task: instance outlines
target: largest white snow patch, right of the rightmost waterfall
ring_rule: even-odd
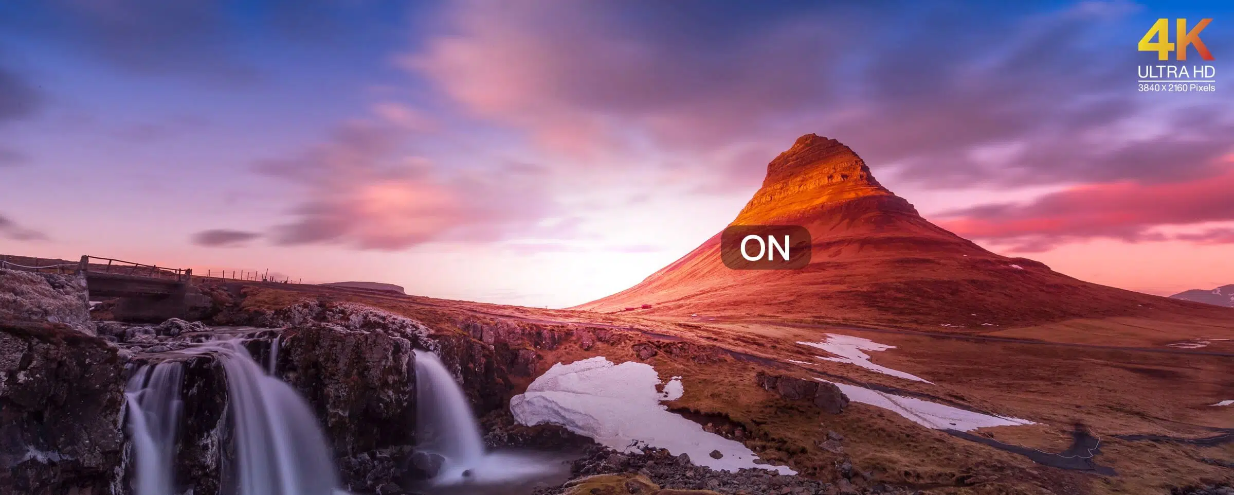
[[[784,465],[754,464],[758,455],[740,442],[702,431],[702,426],[668,411],[661,401],[681,397],[680,376],[656,393],[660,375],[649,364],[613,364],[602,356],[557,363],[527,386],[527,393],[510,399],[510,412],[521,425],[555,423],[591,437],[601,444],[637,452],[638,444],[666,448],[674,455],[716,470],[740,468],[796,474]],[[723,457],[711,458],[712,451]]]

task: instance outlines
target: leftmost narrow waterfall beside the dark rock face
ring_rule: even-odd
[[[128,432],[136,454],[136,495],[174,493],[175,433],[180,421],[180,381],[184,368],[168,362],[143,367],[125,389]]]

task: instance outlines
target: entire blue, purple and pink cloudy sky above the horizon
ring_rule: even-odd
[[[564,307],[806,133],[1065,274],[1234,283],[1229,2],[0,4],[0,252]],[[1159,17],[1217,90],[1141,93]]]

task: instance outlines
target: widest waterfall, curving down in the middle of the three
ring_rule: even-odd
[[[265,373],[239,339],[185,349],[218,358],[234,431],[237,495],[332,495],[338,486],[326,438],[308,404]]]

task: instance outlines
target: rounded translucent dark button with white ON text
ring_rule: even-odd
[[[796,225],[733,225],[719,235],[719,257],[734,270],[806,268],[810,246],[810,231]]]

